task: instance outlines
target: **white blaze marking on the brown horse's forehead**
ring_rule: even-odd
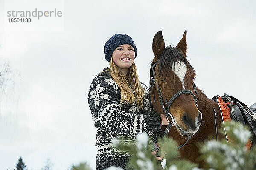
[[[176,61],[172,65],[172,71],[180,78],[183,89],[185,89],[184,79],[187,72],[187,66],[182,61]]]

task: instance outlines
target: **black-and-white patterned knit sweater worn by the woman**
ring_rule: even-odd
[[[161,116],[149,115],[148,88],[142,82],[140,85],[145,89],[144,109],[140,109],[136,102],[119,104],[121,91],[109,71],[102,72],[93,79],[88,103],[94,125],[98,129],[95,142],[97,170],[104,170],[112,165],[125,168],[127,165],[131,153],[116,150],[111,144],[114,137],[121,142],[135,142],[137,133],[146,132],[153,142],[157,142],[157,137],[163,134],[160,128]]]

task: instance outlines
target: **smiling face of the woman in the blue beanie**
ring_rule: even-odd
[[[130,44],[122,44],[115,49],[112,54],[113,62],[119,70],[126,70],[131,67],[134,62],[134,48]]]

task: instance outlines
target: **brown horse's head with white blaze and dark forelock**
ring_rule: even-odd
[[[164,107],[171,113],[180,135],[192,136],[199,129],[202,113],[197,108],[195,98],[195,71],[186,58],[186,31],[176,47],[171,45],[165,47],[162,31],[159,31],[154,36],[152,48],[154,52],[150,71],[150,77],[154,79],[154,86],[150,90],[153,91],[150,93],[152,105],[159,114],[164,114]],[[177,95],[179,91],[183,93]],[[189,91],[190,94],[184,91]],[[162,106],[160,96],[163,98]],[[173,101],[168,108],[169,102],[166,102],[170,99]]]

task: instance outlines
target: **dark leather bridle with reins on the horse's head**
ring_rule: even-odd
[[[156,104],[156,101],[155,101],[155,97],[154,97],[153,87],[154,87],[154,85],[156,84],[156,80],[155,80],[155,78],[156,78],[155,67],[156,67],[157,63],[158,63],[158,60],[157,60],[156,62],[154,62],[154,64],[152,65],[152,68],[151,68],[151,69],[153,70],[153,75],[152,75],[152,77],[151,77],[150,86],[149,86],[149,96],[151,96],[151,91],[152,91],[153,98],[154,98],[154,103],[155,103],[155,104]],[[195,78],[194,78],[194,79],[195,79]],[[194,83],[194,81],[193,81],[193,89],[194,89],[195,94],[198,95],[198,92],[197,92],[196,89],[195,89],[195,83]],[[161,107],[162,107],[162,109],[163,109],[163,111],[164,111],[164,113],[165,113],[166,119],[168,120],[168,122],[169,122],[168,116],[172,119],[172,122],[169,122],[169,124],[167,125],[167,127],[166,127],[166,129],[165,129],[165,131],[164,131],[164,139],[163,139],[163,140],[165,140],[165,139],[167,138],[167,135],[168,135],[168,133],[169,133],[170,128],[171,128],[172,126],[175,126],[175,119],[174,119],[174,117],[172,116],[172,114],[169,113],[169,110],[170,110],[170,107],[171,107],[171,105],[172,105],[172,102],[174,102],[175,99],[177,99],[177,97],[180,96],[181,94],[191,94],[191,96],[192,96],[192,97],[194,98],[194,100],[195,100],[195,105],[196,105],[196,107],[198,107],[198,104],[197,104],[197,98],[195,98],[195,94],[194,94],[192,91],[188,90],[188,89],[183,89],[183,90],[178,91],[177,93],[175,93],[175,94],[171,97],[171,99],[169,99],[169,101],[167,101],[165,98],[163,98],[163,94],[162,94],[162,92],[161,92],[161,89],[160,89],[159,85],[157,85],[157,92],[158,92],[158,95],[159,95],[160,105],[161,105]],[[165,103],[166,103],[166,106],[165,106]],[[150,107],[151,107],[150,109],[152,110],[152,107],[153,107],[152,102],[151,102],[151,106],[150,106]],[[186,141],[184,144],[178,146],[178,149],[180,149],[181,147],[185,146],[186,143],[189,141],[189,139],[191,139],[191,136],[188,136],[187,141]],[[158,150],[158,151],[159,151],[159,150]],[[158,152],[157,152],[157,154],[158,154]]]

